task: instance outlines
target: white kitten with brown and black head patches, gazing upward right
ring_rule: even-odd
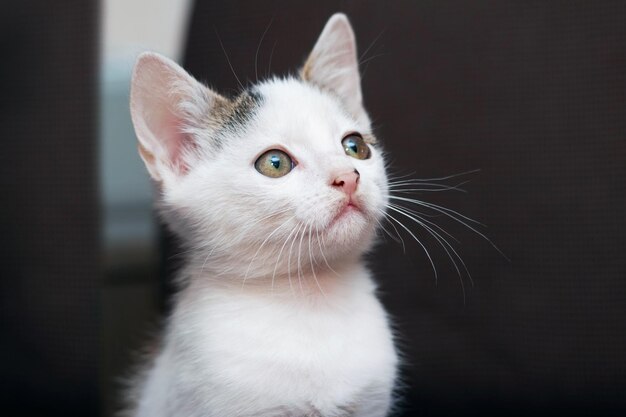
[[[131,112],[188,259],[129,414],[387,415],[398,359],[361,258],[388,185],[346,16],[330,18],[299,78],[234,99],[145,53]]]

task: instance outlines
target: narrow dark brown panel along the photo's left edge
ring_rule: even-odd
[[[0,3],[0,415],[97,416],[96,1]]]

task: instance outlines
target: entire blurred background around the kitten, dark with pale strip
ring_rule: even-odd
[[[406,357],[398,416],[626,414],[626,3],[24,0],[0,4],[0,414],[111,416],[161,328],[175,241],[128,112],[152,50],[224,94],[295,71],[350,17],[393,175],[469,276],[413,228],[368,256]],[[223,44],[223,49],[220,44]],[[448,182],[454,185],[457,182]]]

